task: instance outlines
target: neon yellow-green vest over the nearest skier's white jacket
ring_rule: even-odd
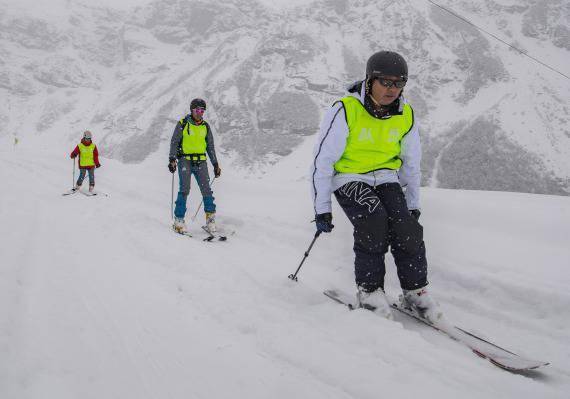
[[[368,173],[399,169],[401,142],[414,125],[412,107],[404,104],[401,115],[378,119],[355,97],[341,99],[346,112],[348,138],[342,157],[334,164],[339,173]]]

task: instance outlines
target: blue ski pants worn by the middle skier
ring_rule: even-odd
[[[210,187],[210,176],[208,174],[208,165],[206,161],[190,161],[186,158],[178,159],[178,180],[180,187],[176,198],[176,207],[174,208],[174,216],[180,219],[186,215],[186,201],[190,194],[190,178],[194,175],[202,198],[204,200],[204,211],[208,213],[216,212],[216,204],[214,203],[214,193]]]

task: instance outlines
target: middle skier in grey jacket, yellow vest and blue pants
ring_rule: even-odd
[[[192,174],[198,182],[204,200],[206,228],[210,233],[216,232],[216,204],[210,187],[206,153],[214,167],[214,176],[220,177],[222,170],[216,158],[212,129],[208,122],[203,119],[204,112],[206,112],[206,102],[200,98],[193,99],[190,102],[190,114],[176,124],[170,141],[168,169],[174,173],[178,165],[180,181],[173,226],[178,233],[187,231],[184,215],[186,214],[186,200],[190,193],[190,177]]]

